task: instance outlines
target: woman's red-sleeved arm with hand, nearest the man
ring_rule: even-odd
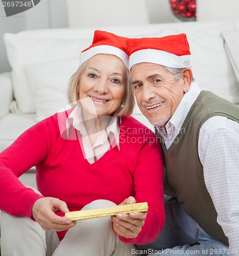
[[[150,243],[157,239],[165,221],[163,155],[160,143],[155,138],[147,140],[141,148],[134,172],[134,183],[135,199],[138,203],[147,202],[148,211],[136,212],[134,216],[116,216],[113,222],[117,223],[117,226],[113,225],[113,228],[125,243]],[[119,227],[120,223],[122,227]]]

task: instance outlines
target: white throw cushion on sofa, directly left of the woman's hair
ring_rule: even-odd
[[[26,67],[28,81],[36,97],[36,121],[43,120],[68,104],[67,88],[79,58],[58,59]]]

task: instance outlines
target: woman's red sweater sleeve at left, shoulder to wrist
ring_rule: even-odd
[[[43,161],[52,139],[53,122],[48,119],[32,126],[0,154],[0,209],[15,216],[32,216],[32,206],[42,196],[18,179]]]

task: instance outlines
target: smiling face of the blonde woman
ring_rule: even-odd
[[[97,54],[90,58],[79,85],[83,108],[98,116],[112,116],[123,101],[126,87],[124,74],[124,63],[115,55]]]

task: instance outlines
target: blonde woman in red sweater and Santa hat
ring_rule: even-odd
[[[96,31],[69,83],[72,108],[34,125],[0,155],[3,255],[131,255],[162,230],[162,153],[155,135],[129,116],[125,40]],[[17,179],[32,166],[41,195]],[[148,202],[148,212],[77,223],[64,217],[135,200]]]

